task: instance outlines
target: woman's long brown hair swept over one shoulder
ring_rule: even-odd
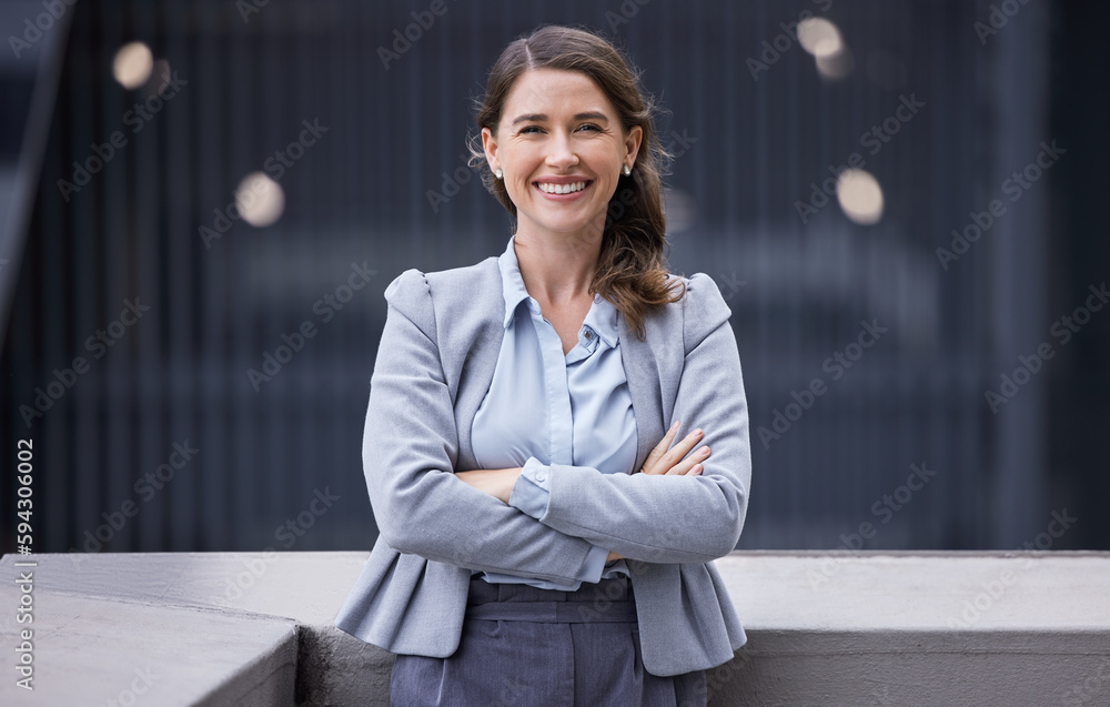
[[[653,130],[656,108],[640,89],[639,72],[613,44],[593,32],[545,26],[509,43],[490,71],[485,95],[475,101],[478,134],[470,139],[470,164],[483,170],[482,182],[512,214],[514,231],[516,204],[508,198],[504,182],[490,171],[482,150],[481,131],[488,128],[497,132],[501,112],[513,84],[532,69],[586,74],[616,108],[625,132],[633,125],[644,131],[632,174],[620,175],[609,200],[597,270],[589,284],[591,294],[599,293],[612,302],[643,341],[644,315],[653,307],[677,302],[686,293],[680,279],[667,282],[660,173],[670,155]]]

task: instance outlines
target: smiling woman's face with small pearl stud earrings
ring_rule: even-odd
[[[517,233],[599,236],[620,170],[635,163],[642,137],[639,125],[624,132],[616,109],[586,74],[535,69],[516,80],[497,132],[484,128],[482,144],[490,168],[504,171]]]

